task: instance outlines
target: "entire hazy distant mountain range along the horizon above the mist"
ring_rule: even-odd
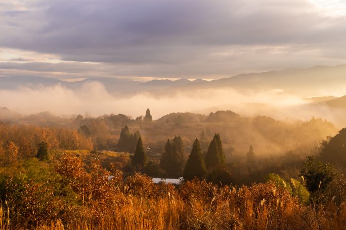
[[[269,71],[264,73],[240,74],[218,80],[205,81],[197,79],[190,81],[179,80],[152,80],[141,82],[119,78],[89,78],[82,81],[67,82],[58,79],[38,76],[15,76],[0,78],[0,89],[15,89],[21,86],[53,86],[61,84],[67,88],[75,89],[86,82],[98,81],[102,83],[111,94],[125,92],[164,90],[194,90],[208,88],[234,88],[234,89],[282,89],[302,97],[311,95],[330,94],[342,92],[346,87],[346,65],[335,67],[314,66],[308,69],[287,69],[282,71]]]

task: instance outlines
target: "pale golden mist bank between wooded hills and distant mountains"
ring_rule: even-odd
[[[310,120],[313,116],[327,119],[336,126],[346,124],[342,109],[331,109],[284,92],[273,90],[235,90],[212,88],[191,91],[152,91],[117,95],[107,92],[99,82],[88,82],[72,90],[60,84],[50,87],[30,86],[0,90],[0,106],[31,114],[51,111],[54,114],[84,114],[97,117],[123,113],[134,118],[150,108],[154,119],[170,112],[233,110],[243,116],[265,115],[277,120]]]

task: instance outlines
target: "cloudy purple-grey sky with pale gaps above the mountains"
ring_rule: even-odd
[[[0,0],[0,77],[215,79],[346,64],[346,0]]]

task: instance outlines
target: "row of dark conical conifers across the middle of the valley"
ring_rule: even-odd
[[[207,130],[207,132],[209,133],[210,131]],[[135,138],[138,139],[136,148],[133,151],[134,154],[132,155],[132,165],[135,170],[143,171],[147,164],[147,156],[138,131],[135,134],[131,134],[128,131],[128,127],[125,126],[120,133],[118,148],[127,151],[133,149]],[[151,162],[148,165],[152,166],[152,164]],[[192,180],[196,177],[216,182],[229,183],[231,181],[230,172],[225,165],[225,153],[220,134],[213,136],[205,156],[203,156],[200,142],[196,138],[187,159],[182,138],[180,136],[175,136],[171,140],[168,138],[160,157],[159,167],[168,178],[183,176],[186,180]]]

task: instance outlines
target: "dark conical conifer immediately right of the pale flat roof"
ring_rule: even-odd
[[[194,177],[206,178],[207,176],[207,170],[202,156],[201,147],[199,146],[199,141],[197,138],[193,143],[189,159],[185,165],[183,176],[186,180],[192,180]]]

